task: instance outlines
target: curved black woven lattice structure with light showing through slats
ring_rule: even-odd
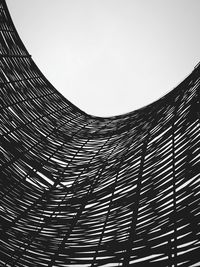
[[[200,266],[200,67],[99,118],[42,75],[0,0],[0,266]]]

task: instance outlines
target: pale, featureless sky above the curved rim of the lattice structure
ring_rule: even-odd
[[[34,61],[97,116],[150,104],[200,61],[200,0],[7,0]]]

